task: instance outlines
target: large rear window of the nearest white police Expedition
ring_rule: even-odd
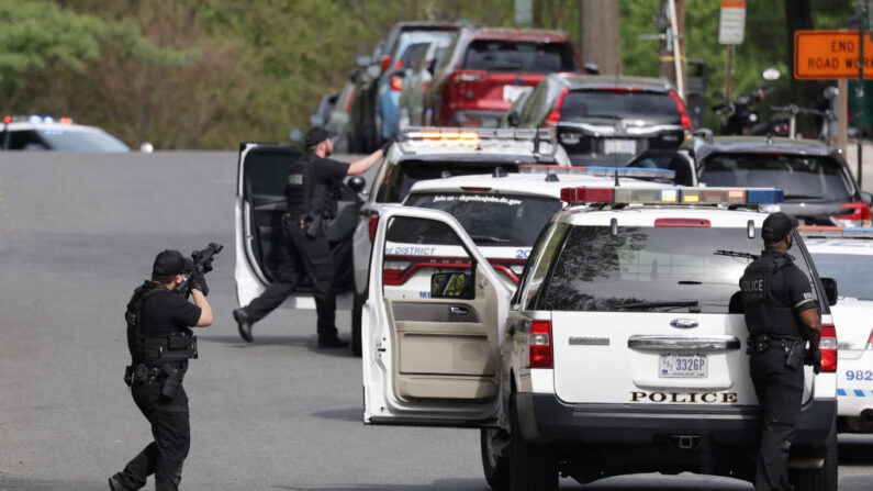
[[[609,228],[569,232],[545,309],[729,313],[746,266],[762,249],[760,228],[752,239],[745,227],[619,226],[615,237]],[[795,264],[809,276],[799,254]]]

